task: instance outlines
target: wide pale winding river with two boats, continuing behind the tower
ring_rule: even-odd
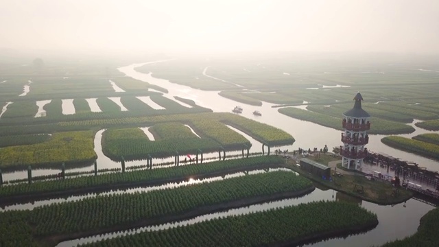
[[[244,110],[240,114],[241,116],[247,117],[248,119],[254,119],[256,121],[260,121],[264,124],[269,124],[277,128],[281,128],[289,134],[292,134],[296,141],[294,142],[292,148],[290,148],[289,150],[297,150],[298,148],[303,148],[305,150],[308,150],[308,148],[311,148],[311,150],[313,148],[318,148],[320,150],[320,148],[323,148],[324,145],[327,145],[331,151],[332,147],[338,147],[342,144],[340,130],[335,130],[332,128],[320,126],[318,124],[313,124],[309,121],[302,121],[287,117],[281,113],[278,113],[278,108],[272,108],[272,106],[275,106],[275,104],[263,102],[262,106],[251,106],[244,103],[238,103],[231,99],[227,99],[218,95],[219,91],[202,91],[200,89],[193,89],[189,86],[183,86],[180,84],[169,82],[169,80],[154,78],[153,73],[145,74],[134,70],[136,67],[140,67],[143,64],[145,63],[131,64],[129,66],[119,68],[119,71],[134,79],[142,80],[144,82],[148,82],[150,84],[161,86],[167,89],[169,91],[167,95],[169,95],[170,97],[178,96],[186,99],[192,99],[199,106],[211,108],[213,112],[230,113],[231,110],[233,110],[233,108],[235,108],[235,106],[239,104],[244,108]],[[259,110],[259,112],[262,113],[262,117],[254,116],[252,114],[254,110]],[[416,121],[410,124],[410,126],[413,126],[415,128],[415,131],[411,134],[404,134],[402,136],[412,137],[417,134],[429,132],[428,130],[423,130],[414,126],[414,123],[416,123]],[[340,126],[341,124],[342,123],[340,122]],[[421,167],[427,167],[427,169],[431,169],[433,171],[439,169],[438,161],[434,161],[423,156],[418,156],[416,154],[403,152],[395,148],[390,148],[388,145],[384,145],[383,143],[381,143],[381,139],[383,137],[385,137],[385,135],[370,134],[369,143],[368,145],[366,145],[366,147],[371,151],[383,152],[385,154],[401,158],[401,160],[415,161]]]

